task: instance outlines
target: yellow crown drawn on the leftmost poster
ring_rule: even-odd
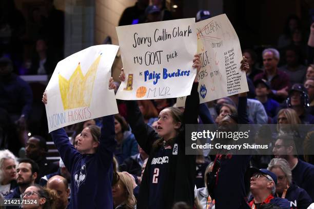
[[[80,62],[69,80],[59,74],[59,88],[64,110],[90,106],[101,55],[89,67],[85,76],[82,73]]]

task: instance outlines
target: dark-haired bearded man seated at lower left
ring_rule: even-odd
[[[16,182],[18,186],[15,187],[11,194],[6,196],[6,199],[20,198],[21,194],[25,192],[27,187],[35,183],[38,171],[38,165],[33,160],[26,158],[19,160],[16,169]]]

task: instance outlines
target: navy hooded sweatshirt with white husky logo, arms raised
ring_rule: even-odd
[[[51,132],[61,158],[71,173],[69,208],[112,208],[113,116],[103,117],[100,144],[95,154],[81,154],[69,141],[64,129]]]

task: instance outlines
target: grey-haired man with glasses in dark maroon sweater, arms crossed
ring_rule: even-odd
[[[262,53],[264,72],[257,74],[254,81],[265,79],[270,82],[270,96],[282,102],[288,96],[288,88],[290,86],[289,76],[277,68],[280,54],[276,49],[265,49]]]

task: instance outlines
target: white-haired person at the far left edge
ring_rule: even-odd
[[[9,150],[0,151],[0,196],[9,195],[17,186],[16,165],[16,158]]]

